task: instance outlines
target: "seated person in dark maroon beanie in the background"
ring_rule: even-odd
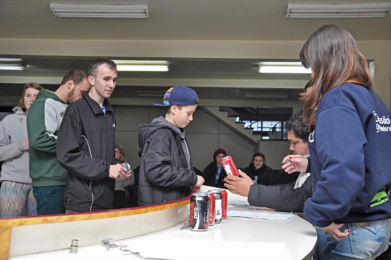
[[[224,178],[227,176],[224,167],[221,165],[221,159],[227,156],[224,149],[217,149],[213,154],[213,162],[205,167],[202,177],[205,182],[203,185],[226,189],[224,187]]]

